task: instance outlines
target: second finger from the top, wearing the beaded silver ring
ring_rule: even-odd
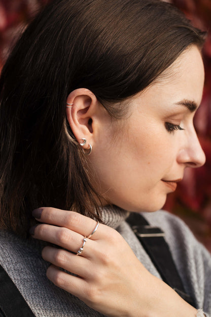
[[[45,223],[39,224],[34,228],[33,238],[56,244],[75,253],[84,244],[82,235],[64,227]],[[90,257],[93,253],[93,243],[95,241],[87,239],[83,247],[82,256]]]

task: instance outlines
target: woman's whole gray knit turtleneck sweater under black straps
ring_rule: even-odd
[[[194,238],[179,218],[165,212],[143,213],[155,226],[161,227],[171,249],[186,292],[211,316],[211,256]],[[103,209],[103,220],[118,230],[128,242],[138,260],[155,276],[159,273],[140,245],[129,225],[127,212],[113,207]],[[31,310],[39,317],[103,316],[75,296],[59,289],[46,277],[46,263],[41,257],[44,242],[23,240],[0,230],[0,264],[8,272]],[[124,265],[124,264],[123,264]],[[1,292],[1,289],[0,289]],[[132,296],[132,294],[131,294]],[[134,317],[138,316],[137,315]]]

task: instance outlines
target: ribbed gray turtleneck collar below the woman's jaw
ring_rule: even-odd
[[[104,224],[116,229],[129,216],[129,212],[117,206],[104,206],[101,219]]]

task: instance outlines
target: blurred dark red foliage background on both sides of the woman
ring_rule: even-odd
[[[48,1],[0,0],[0,70],[17,35]],[[172,0],[172,3],[195,26],[208,30],[203,48],[204,94],[194,120],[206,163],[201,168],[186,169],[183,182],[169,195],[164,208],[182,217],[211,251],[211,0]]]

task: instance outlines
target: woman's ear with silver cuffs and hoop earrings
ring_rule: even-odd
[[[66,102],[72,104],[72,107],[66,107],[66,118],[77,141],[83,143],[82,138],[85,138],[87,142],[83,149],[89,149],[89,144],[93,147],[99,132],[98,127],[102,112],[104,113],[106,110],[95,95],[85,88],[71,92]]]

